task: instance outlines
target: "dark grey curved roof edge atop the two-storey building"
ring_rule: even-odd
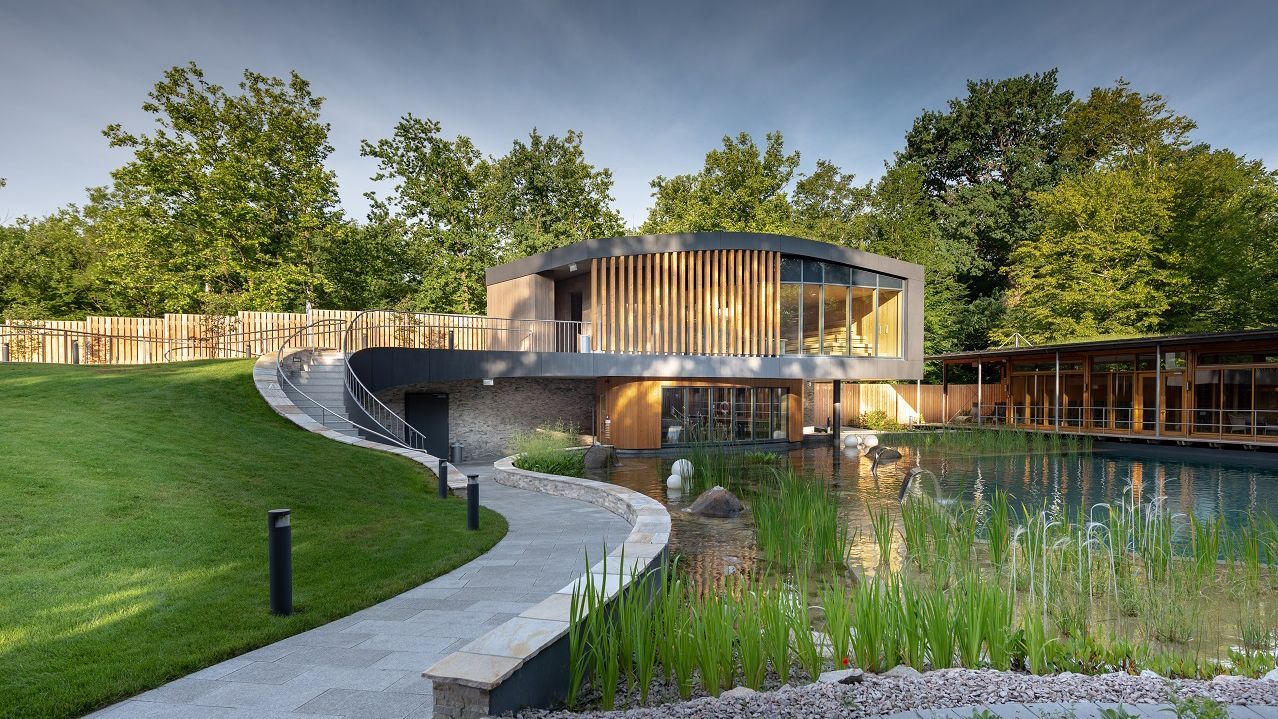
[[[771,250],[794,254],[812,259],[823,259],[850,264],[904,280],[923,280],[923,266],[861,252],[829,243],[772,235],[767,232],[680,232],[671,235],[634,235],[627,238],[601,238],[583,240],[539,254],[529,255],[506,264],[489,267],[486,272],[488,285],[505,282],[528,275],[539,275],[566,268],[574,263],[587,263],[604,257],[626,257],[657,252],[689,250]],[[580,268],[584,269],[584,268]]]

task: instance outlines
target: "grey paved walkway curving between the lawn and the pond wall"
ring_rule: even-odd
[[[487,554],[336,622],[249,651],[92,714],[93,719],[426,719],[438,659],[564,589],[630,525],[576,499],[481,475],[479,497],[510,531]]]

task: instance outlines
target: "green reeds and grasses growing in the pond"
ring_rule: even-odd
[[[962,434],[941,441],[980,452],[1038,442]],[[1059,452],[1090,450],[1058,439]],[[647,593],[625,593],[612,621],[593,610],[601,598],[587,586],[574,598],[584,618],[573,628],[574,704],[644,704],[649,683],[667,696],[717,696],[846,667],[1151,669],[1173,678],[1274,668],[1278,522],[1266,513],[1231,526],[1128,487],[1122,499],[1068,516],[1003,490],[957,502],[915,483],[898,508],[868,508],[881,563],[858,573],[847,547],[863,530],[843,520],[826,481],[751,469],[712,447],[689,456],[697,487],[746,499],[759,561],[709,582],[676,562],[647,580],[656,585],[651,607]]]

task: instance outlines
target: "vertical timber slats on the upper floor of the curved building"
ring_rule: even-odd
[[[776,252],[592,259],[594,344],[607,352],[776,354],[780,284]]]

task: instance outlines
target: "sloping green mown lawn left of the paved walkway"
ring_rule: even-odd
[[[506,531],[401,457],[272,412],[250,361],[0,365],[0,716],[74,716],[322,624]],[[267,610],[266,511],[294,603]]]

